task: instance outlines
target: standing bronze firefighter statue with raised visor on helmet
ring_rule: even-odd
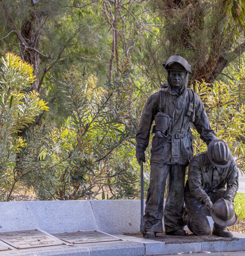
[[[163,217],[167,235],[186,234],[182,229],[182,211],[186,167],[193,157],[191,124],[195,125],[207,144],[217,139],[201,99],[187,88],[191,73],[187,60],[172,56],[163,66],[168,73],[167,88],[148,98],[136,135],[136,158],[140,164],[145,162],[144,151],[155,120],[150,185],[144,215],[146,238],[163,232]],[[167,201],[163,209],[166,180]]]

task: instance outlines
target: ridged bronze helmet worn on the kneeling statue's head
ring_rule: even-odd
[[[231,150],[223,140],[212,140],[208,144],[208,159],[215,167],[225,168],[231,163]]]

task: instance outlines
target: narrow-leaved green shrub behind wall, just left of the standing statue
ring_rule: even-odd
[[[71,117],[56,131],[56,138],[52,136],[53,143],[49,142],[49,150],[56,148],[56,161],[66,159],[57,167],[59,186],[54,196],[58,199],[98,194],[105,198],[105,192],[108,199],[137,196],[137,172],[126,157],[118,159],[137,127],[133,113],[127,112],[129,62],[122,63],[119,70],[114,81],[98,88],[96,77],[83,83],[75,67],[64,77]]]

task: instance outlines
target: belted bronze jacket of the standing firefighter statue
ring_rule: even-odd
[[[200,97],[189,88],[182,90],[180,95],[175,92],[171,84],[165,89],[152,94],[143,110],[136,134],[136,150],[145,151],[149,144],[150,130],[154,116],[157,114],[159,94],[161,93],[161,112],[170,117],[167,137],[152,139],[151,163],[184,164],[188,165],[193,157],[192,134],[190,126],[193,124],[202,140],[207,144],[217,139],[209,123],[204,105]],[[187,115],[189,103],[193,103],[193,115]]]

